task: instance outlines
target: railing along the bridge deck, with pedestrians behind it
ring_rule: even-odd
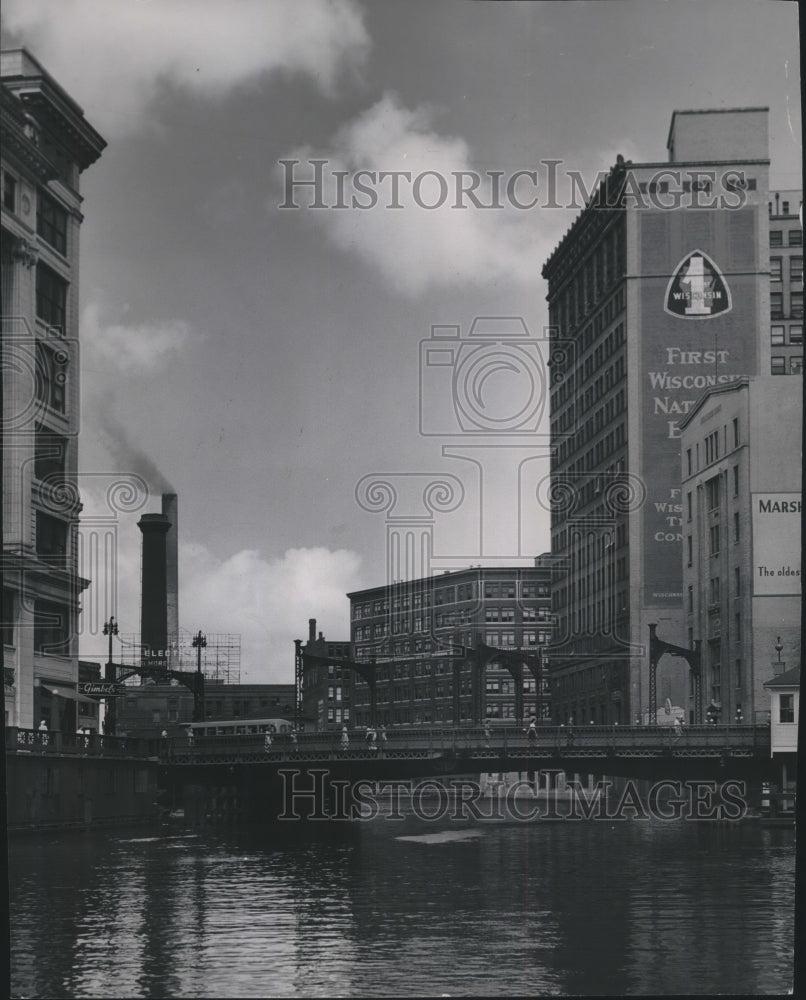
[[[699,754],[757,753],[769,748],[768,726],[540,726],[531,736],[519,726],[406,727],[380,732],[367,741],[361,731],[337,731],[273,736],[174,737],[160,740],[160,755],[177,763],[260,759],[361,759],[442,756],[455,753],[474,758],[558,754]]]

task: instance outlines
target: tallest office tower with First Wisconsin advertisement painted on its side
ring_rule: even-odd
[[[770,366],[767,109],[676,111],[667,145],[619,158],[543,268],[561,719],[649,708],[649,624],[687,640],[680,421]],[[688,710],[684,660],[663,658],[657,698]]]

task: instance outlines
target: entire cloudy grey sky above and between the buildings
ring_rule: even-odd
[[[431,532],[417,571],[528,564],[571,172],[666,160],[675,109],[761,105],[771,185],[801,186],[795,3],[5,0],[2,42],[108,142],[81,179],[82,530],[117,530],[87,658],[109,614],[139,631],[136,522],[167,487],[180,625],[240,634],[251,683],[293,680],[311,617],[349,638],[400,524]],[[319,208],[287,187],[314,160]]]

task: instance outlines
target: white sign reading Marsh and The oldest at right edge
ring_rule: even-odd
[[[800,493],[753,493],[753,596],[800,594]]]

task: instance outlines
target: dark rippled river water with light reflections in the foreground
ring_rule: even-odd
[[[25,997],[780,992],[794,837],[289,825],[12,841]]]

